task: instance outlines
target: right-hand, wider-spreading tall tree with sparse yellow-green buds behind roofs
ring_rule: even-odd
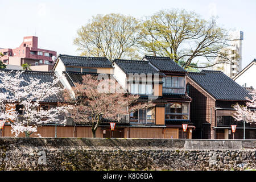
[[[228,32],[214,17],[207,21],[194,12],[162,10],[142,20],[140,35],[144,53],[171,57],[183,68],[198,67],[192,64],[198,60],[210,67],[216,57],[218,63],[232,63],[226,51]]]

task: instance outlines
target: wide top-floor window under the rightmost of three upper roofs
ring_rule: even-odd
[[[163,93],[185,93],[185,78],[167,76],[163,78]]]

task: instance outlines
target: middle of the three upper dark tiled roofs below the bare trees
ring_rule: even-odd
[[[149,64],[149,61],[137,61],[137,60],[122,60],[115,59],[114,63],[118,65],[126,74],[129,73],[144,73],[144,74],[159,74],[165,76],[164,73],[157,71],[154,67]]]

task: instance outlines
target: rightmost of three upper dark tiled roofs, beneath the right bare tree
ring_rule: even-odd
[[[180,65],[175,63],[170,57],[144,56],[143,59],[150,61],[150,63],[160,71],[187,73],[185,69],[181,68]]]

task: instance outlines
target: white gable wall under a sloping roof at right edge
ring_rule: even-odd
[[[246,87],[253,86],[256,89],[256,64],[253,64],[243,72],[235,81],[241,86],[245,86],[246,84]]]

